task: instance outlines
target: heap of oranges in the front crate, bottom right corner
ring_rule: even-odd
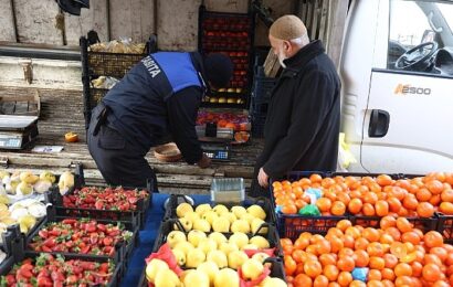
[[[451,286],[453,246],[436,231],[404,217],[378,226],[341,220],[325,236],[282,238],[286,279],[293,286]]]

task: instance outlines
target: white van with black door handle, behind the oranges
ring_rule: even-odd
[[[339,73],[349,171],[453,171],[453,1],[352,1]]]

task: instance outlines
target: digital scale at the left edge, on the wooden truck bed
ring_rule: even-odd
[[[36,116],[0,115],[0,149],[23,149],[38,134]]]

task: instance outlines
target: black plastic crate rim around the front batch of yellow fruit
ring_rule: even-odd
[[[264,228],[267,228],[267,232],[264,233]],[[155,245],[152,247],[152,252],[157,252],[160,246],[162,246],[166,242],[167,242],[167,235],[175,231],[175,230],[179,230],[182,231],[186,235],[189,234],[189,232],[186,232],[183,230],[183,227],[180,225],[180,223],[178,222],[178,220],[176,219],[170,219],[170,220],[166,220],[160,224],[159,227],[159,233],[157,235],[157,238],[155,241]],[[206,233],[208,236],[210,233]],[[222,233],[223,235],[225,235],[227,238],[230,238],[230,236],[233,234],[232,232],[228,232],[228,233]],[[263,225],[261,225],[261,227],[256,231],[256,233],[247,233],[246,234],[249,236],[249,238],[255,236],[255,235],[261,235],[264,238],[266,238],[270,243],[271,248],[275,248],[274,255],[277,257],[283,257],[283,248],[282,245],[280,243],[280,236],[278,236],[278,232],[276,230],[276,227],[272,224],[268,223],[264,223]]]

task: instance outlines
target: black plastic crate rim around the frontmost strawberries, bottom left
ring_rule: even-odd
[[[35,259],[38,256],[40,256],[40,253],[31,253],[28,251],[21,249],[15,256],[8,258],[4,261],[0,267],[0,275],[6,276],[9,274],[11,269],[14,268],[17,264],[20,264],[22,261],[27,258]],[[83,255],[80,254],[67,254],[64,255],[63,258],[65,261],[71,261],[71,259],[77,259],[77,261],[83,261],[83,262],[94,262],[94,263],[106,263],[109,259],[108,258],[101,258],[101,257],[93,257],[93,258],[86,258]],[[108,287],[116,287],[119,286],[122,277],[124,275],[124,268],[120,264],[115,264],[115,270],[112,273],[110,280],[106,286]]]

